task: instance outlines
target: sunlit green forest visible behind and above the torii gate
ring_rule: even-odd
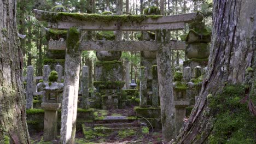
[[[164,15],[175,15],[191,13],[191,11],[200,10],[206,16],[204,22],[206,26],[211,28],[212,26],[212,0],[202,1],[202,0],[168,0],[163,1],[165,3]],[[49,1],[49,0],[28,0],[28,1],[18,1],[18,31],[20,37],[26,35],[24,39],[20,38],[21,50],[24,56],[24,75],[26,75],[26,67],[28,65],[33,65],[35,68],[34,75],[41,76],[43,65],[47,64],[48,59],[48,39],[46,38],[46,33],[49,31],[46,28],[47,23],[39,22],[33,14],[33,9],[40,9],[46,11],[52,11],[54,7],[58,5],[63,5],[72,13],[96,13],[101,14],[103,11],[109,10],[114,14],[115,0],[108,1],[95,1],[95,0],[62,0],[62,1]],[[143,14],[143,9],[150,6],[159,7],[160,1],[143,1],[143,0],[126,0],[123,1],[123,14],[127,15],[139,15]],[[181,40],[182,35],[187,33],[188,26],[183,31],[172,31],[170,33],[171,39]],[[86,33],[86,32],[85,32]],[[89,33],[89,32],[87,32]],[[114,36],[113,32],[90,32],[91,38],[87,39],[98,39],[102,35],[109,37]],[[140,32],[128,32],[124,34],[124,38],[129,40],[139,40]],[[184,57],[184,51],[172,51],[172,65],[182,65],[182,62],[187,58]],[[135,79],[137,81],[139,75],[139,61],[140,52],[131,51],[122,53],[122,61],[130,62],[130,79]],[[82,55],[82,65],[88,65],[93,67],[93,63],[97,61],[94,51],[83,51]],[[58,62],[56,61],[56,64]],[[91,73],[92,69],[91,69]]]

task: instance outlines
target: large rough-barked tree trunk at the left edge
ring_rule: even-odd
[[[30,143],[18,44],[16,1],[0,1],[0,143]]]

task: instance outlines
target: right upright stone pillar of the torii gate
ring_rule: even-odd
[[[165,46],[168,40],[166,29],[156,31],[156,41],[160,44],[156,61],[158,65],[162,136],[166,142],[174,139],[177,132],[172,88],[171,50],[170,47]]]

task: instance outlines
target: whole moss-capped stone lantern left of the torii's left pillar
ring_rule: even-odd
[[[56,139],[57,135],[57,116],[61,107],[61,95],[63,92],[63,83],[57,83],[58,74],[51,71],[48,80],[44,83],[44,98],[41,104],[44,109],[44,141]]]

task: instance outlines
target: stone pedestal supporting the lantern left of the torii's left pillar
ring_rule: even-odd
[[[57,135],[57,116],[61,107],[60,103],[42,103],[44,109],[44,141],[56,139]]]

